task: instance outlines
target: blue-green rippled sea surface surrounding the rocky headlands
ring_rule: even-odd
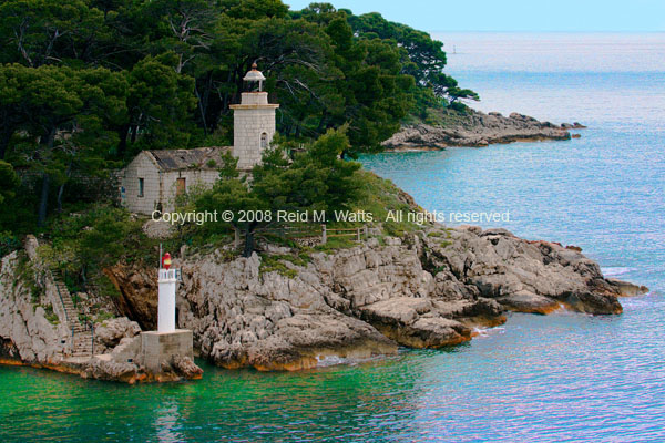
[[[0,367],[0,441],[665,441],[665,35],[436,37],[477,107],[589,128],[365,167],[429,210],[509,213],[652,292],[621,316],[511,315],[452,350],[298,373],[202,362],[201,381],[127,387]]]

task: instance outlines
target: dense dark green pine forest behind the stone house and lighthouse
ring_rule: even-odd
[[[4,205],[32,205],[40,225],[75,174],[109,174],[146,148],[231,144],[229,106],[253,62],[280,104],[278,132],[321,137],[317,151],[339,147],[329,131],[344,126],[342,156],[380,151],[423,106],[478,99],[443,73],[442,43],[426,32],[329,3],[4,0],[0,42],[0,159],[32,174]],[[319,190],[344,169],[301,162],[284,174]]]

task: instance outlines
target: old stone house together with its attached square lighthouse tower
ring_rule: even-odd
[[[141,152],[119,174],[124,207],[140,214],[172,210],[180,193],[193,185],[209,187],[219,178],[221,155],[226,152],[238,158],[237,167],[245,174],[260,162],[263,151],[275,135],[275,111],[279,105],[268,103],[268,93],[263,91],[266,78],[256,70],[256,64],[243,80],[258,83],[258,87],[243,92],[241,103],[231,105],[234,145]]]

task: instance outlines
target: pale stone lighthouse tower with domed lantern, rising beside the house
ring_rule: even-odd
[[[238,158],[238,169],[247,171],[260,163],[260,157],[275,135],[275,110],[263,91],[266,78],[257,71],[256,63],[243,78],[249,92],[243,92],[241,104],[233,104],[233,155]],[[258,84],[257,84],[258,83]]]

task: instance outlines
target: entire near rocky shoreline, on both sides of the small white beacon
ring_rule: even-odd
[[[183,275],[177,322],[193,331],[200,357],[228,369],[310,369],[328,357],[459,344],[478,328],[505,322],[509,311],[617,315],[618,297],[647,291],[605,279],[580,248],[524,240],[505,229],[430,225],[305,257],[266,247],[287,271],[265,270],[256,254],[228,261],[223,249],[176,260]],[[160,375],[139,363],[137,334],[156,319],[153,269],[106,269],[121,292],[113,301],[119,318],[96,326],[99,353],[76,359],[63,344],[70,332],[48,320],[42,307],[57,303],[53,288],[21,267],[18,253],[2,259],[0,363],[129,383],[201,378],[188,359],[175,359]],[[43,285],[37,299],[35,285]]]

